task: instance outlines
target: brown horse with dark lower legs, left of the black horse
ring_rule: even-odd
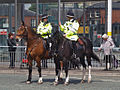
[[[25,39],[27,42],[27,58],[28,58],[28,79],[26,83],[31,83],[32,79],[32,61],[35,60],[37,62],[39,79],[38,83],[42,84],[43,79],[41,75],[41,59],[50,59],[52,56],[49,56],[49,51],[46,50],[46,41],[40,36],[37,35],[35,31],[33,31],[29,26],[21,25],[16,34],[16,39]]]

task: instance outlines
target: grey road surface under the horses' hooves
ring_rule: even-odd
[[[38,75],[33,74],[32,83],[26,84],[25,73],[0,73],[0,90],[120,90],[120,76],[93,75],[90,84],[80,83],[81,75],[71,75],[70,84],[63,82],[54,86],[54,75],[43,75],[43,84],[37,84]]]

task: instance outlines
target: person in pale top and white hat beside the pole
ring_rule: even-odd
[[[106,60],[106,70],[109,70],[111,67],[111,51],[115,47],[115,44],[111,37],[107,34],[102,36],[103,42],[99,48],[99,50],[104,50],[104,59]]]

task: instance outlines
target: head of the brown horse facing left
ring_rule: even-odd
[[[22,38],[27,38],[27,30],[28,28],[26,26],[21,25],[17,30],[16,39],[21,40]]]

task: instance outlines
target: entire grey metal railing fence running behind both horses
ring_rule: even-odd
[[[15,67],[27,68],[28,61],[27,61],[27,55],[25,54],[25,50],[26,50],[26,46],[17,46],[17,49],[15,52],[9,52],[8,46],[0,46],[0,66],[9,67],[10,60],[13,59],[15,60],[15,62],[13,62],[13,65],[15,65]],[[102,65],[99,62],[92,59],[92,67],[97,67],[97,68],[105,67],[104,53],[97,51],[96,48],[94,48],[94,52],[99,56],[102,62]],[[10,57],[10,54],[12,55],[11,57]],[[115,55],[116,59],[118,60],[118,64],[120,64],[120,52],[114,51],[113,55]],[[113,60],[111,63],[112,63],[112,66],[114,66]],[[87,61],[86,61],[86,64],[87,64]],[[54,58],[42,60],[41,66],[42,68],[55,68]],[[35,61],[33,61],[33,67],[36,67]],[[69,69],[73,69],[73,68],[75,69],[76,67],[69,62]]]

